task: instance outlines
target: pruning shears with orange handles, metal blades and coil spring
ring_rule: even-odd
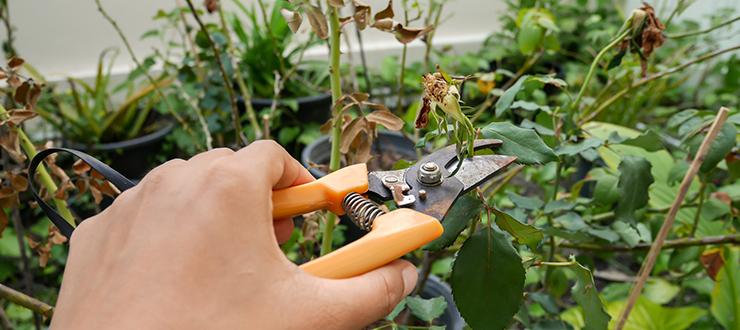
[[[501,144],[495,139],[475,140],[474,150]],[[450,145],[406,169],[368,173],[365,164],[352,165],[310,183],[273,191],[273,217],[321,209],[346,214],[368,233],[300,268],[324,278],[352,277],[442,235],[441,221],[455,200],[515,160],[514,156],[474,155],[459,164],[455,146]],[[395,209],[385,212],[376,204],[385,202]]]

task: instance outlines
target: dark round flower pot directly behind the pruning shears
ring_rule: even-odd
[[[378,137],[375,139],[372,146],[373,156],[383,154],[393,154],[398,156],[400,159],[409,161],[416,160],[416,149],[414,142],[406,138],[400,133],[396,132],[378,132]],[[331,158],[331,142],[329,136],[325,135],[318,138],[313,143],[306,146],[301,153],[301,163],[303,166],[308,168],[315,178],[321,178],[326,175],[326,171],[312,167],[311,164],[329,164]],[[368,170],[390,170],[392,168],[376,168],[377,164],[368,165]],[[392,165],[391,165],[392,167]],[[365,234],[362,229],[358,228],[352,221],[346,216],[340,217],[340,223],[344,225],[347,230],[344,232],[344,236],[347,242],[352,242]]]

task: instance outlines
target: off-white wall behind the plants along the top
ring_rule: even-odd
[[[121,48],[116,71],[125,72],[132,67],[123,52],[123,44],[113,28],[98,13],[94,0],[8,0],[12,23],[16,26],[16,48],[27,61],[35,65],[48,78],[58,79],[67,75],[89,77],[94,74],[97,56],[106,47]],[[151,44],[141,42],[139,36],[155,27],[151,17],[160,8],[171,8],[182,0],[102,0],[103,6],[118,21],[133,42],[140,56],[151,50]],[[233,7],[232,0],[222,0],[227,8]],[[242,0],[246,4],[255,0]],[[375,11],[385,6],[386,0],[366,0]],[[618,0],[615,0],[618,1]],[[194,0],[202,6],[202,0]],[[345,2],[349,2],[345,0]],[[400,13],[401,1],[396,1],[396,13]],[[421,3],[426,1],[421,0]],[[623,1],[618,1],[623,2]],[[626,8],[635,8],[640,0],[627,0]],[[654,0],[659,17],[675,7],[676,0]],[[740,9],[739,0],[698,0],[684,17],[701,19],[717,8]],[[451,0],[446,2],[446,19],[439,27],[436,44],[454,45],[454,51],[464,52],[477,48],[483,38],[499,27],[498,15],[505,11],[502,0]],[[629,11],[626,11],[629,13]],[[706,23],[706,20],[704,21]],[[307,22],[304,22],[305,25]],[[354,33],[350,33],[351,36]],[[378,63],[384,55],[399,54],[400,45],[388,34],[366,30],[366,49],[372,63]],[[0,36],[5,31],[0,27]],[[740,36],[730,40],[736,43]],[[412,57],[421,54],[421,42],[413,43]],[[357,47],[353,47],[356,50]],[[311,56],[323,56],[326,48],[318,47]],[[355,60],[358,60],[355,57]]]

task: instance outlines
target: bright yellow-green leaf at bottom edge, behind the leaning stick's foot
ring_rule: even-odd
[[[609,314],[616,323],[624,301],[607,305]],[[706,312],[699,307],[662,307],[645,297],[637,299],[623,330],[684,330],[696,322]]]

